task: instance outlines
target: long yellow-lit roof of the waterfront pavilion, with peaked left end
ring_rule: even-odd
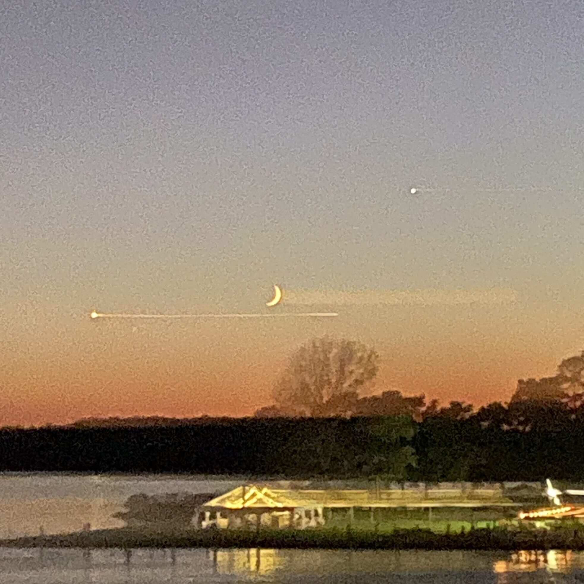
[[[242,485],[204,503],[206,508],[500,507],[517,506],[500,489],[342,490],[272,489]]]

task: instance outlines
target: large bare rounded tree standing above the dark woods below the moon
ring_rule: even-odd
[[[359,392],[375,378],[378,355],[354,340],[324,337],[301,346],[274,389],[288,415],[350,415]]]

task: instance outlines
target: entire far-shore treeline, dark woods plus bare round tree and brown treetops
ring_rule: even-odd
[[[276,404],[254,418],[2,429],[0,470],[584,482],[584,352],[478,411],[398,391],[360,397],[376,372],[373,350],[317,339],[293,355]]]

